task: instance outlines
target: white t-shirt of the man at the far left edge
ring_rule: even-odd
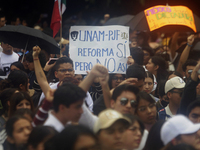
[[[0,52],[0,69],[2,69],[6,75],[10,73],[10,65],[13,62],[18,61],[19,55],[15,52],[12,53],[12,55],[4,54],[3,52]]]

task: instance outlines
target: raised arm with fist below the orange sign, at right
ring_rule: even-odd
[[[188,38],[187,38],[187,45],[185,47],[185,49],[183,50],[182,54],[181,54],[181,57],[180,57],[180,61],[179,61],[179,64],[178,64],[178,67],[177,67],[177,71],[180,72],[181,74],[183,74],[183,69],[182,69],[182,66],[183,64],[187,61],[188,59],[188,56],[189,56],[189,53],[190,53],[190,49],[191,49],[191,46],[194,42],[194,35],[190,35]]]

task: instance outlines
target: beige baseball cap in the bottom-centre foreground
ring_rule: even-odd
[[[97,133],[101,129],[109,128],[118,120],[124,121],[127,125],[131,123],[128,118],[113,109],[106,109],[102,111],[99,114],[98,120],[95,122],[94,133]]]

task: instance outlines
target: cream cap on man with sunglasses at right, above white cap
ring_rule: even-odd
[[[184,87],[185,87],[185,82],[183,81],[182,78],[173,77],[173,78],[167,80],[167,82],[165,84],[165,94],[167,94],[167,92],[169,92],[173,88],[182,89]]]

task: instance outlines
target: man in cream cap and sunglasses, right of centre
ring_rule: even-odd
[[[169,104],[158,112],[160,120],[168,120],[176,115],[184,87],[185,82],[180,77],[173,77],[166,82],[165,94],[167,94]]]

